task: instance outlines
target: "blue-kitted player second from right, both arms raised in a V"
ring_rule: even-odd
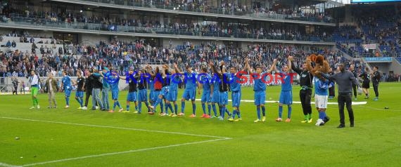
[[[274,59],[272,67],[270,67],[270,69],[267,70],[267,72],[262,72],[262,67],[257,66],[256,73],[254,73],[253,69],[250,68],[250,65],[248,64],[247,67],[248,72],[250,72],[250,75],[252,77],[251,79],[254,79],[253,91],[255,92],[254,98],[255,98],[256,113],[257,113],[257,119],[253,122],[266,121],[266,112],[265,112],[266,83],[269,83],[269,81],[267,81],[267,76],[270,75],[270,73],[274,70],[275,66],[276,66],[276,59]],[[262,115],[263,115],[262,120],[260,119],[260,109],[262,109]]]

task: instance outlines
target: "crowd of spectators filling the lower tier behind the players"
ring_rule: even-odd
[[[14,33],[11,33],[14,34]],[[27,34],[20,34],[24,36]],[[21,41],[24,42],[24,41]],[[46,43],[47,41],[45,41]],[[56,43],[57,40],[51,40]],[[32,43],[33,45],[34,43]],[[177,62],[180,67],[191,65],[196,71],[208,62],[224,60],[228,66],[243,67],[243,58],[250,58],[250,65],[261,65],[269,68],[274,58],[280,63],[286,63],[288,55],[295,56],[295,64],[300,65],[310,53],[326,55],[330,65],[336,68],[338,62],[346,62],[340,53],[333,53],[328,48],[311,48],[309,46],[295,46],[284,44],[254,44],[241,49],[214,42],[202,42],[199,45],[190,41],[182,45],[151,46],[144,39],[136,41],[100,41],[95,45],[68,44],[65,48],[40,47],[40,52],[32,51],[4,51],[0,53],[0,77],[27,76],[30,70],[35,70],[39,76],[47,76],[49,72],[54,76],[61,76],[62,71],[75,76],[77,70],[113,69],[124,74],[129,67],[138,69],[146,64],[170,64]],[[351,62],[350,62],[351,63]]]

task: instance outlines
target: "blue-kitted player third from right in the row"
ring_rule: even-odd
[[[248,59],[246,60],[245,67],[248,66]],[[245,74],[246,69],[238,72],[236,67],[230,68],[230,89],[231,89],[231,100],[233,107],[233,114],[229,121],[241,121],[241,112],[239,110],[239,105],[241,103],[241,83],[242,79],[246,78],[243,76]],[[235,116],[238,116],[238,119],[235,119]]]

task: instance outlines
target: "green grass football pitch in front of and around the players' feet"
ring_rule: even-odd
[[[279,90],[268,87],[267,100],[278,100]],[[299,101],[298,87],[293,90]],[[290,123],[274,121],[277,103],[267,103],[266,122],[253,123],[253,102],[241,102],[243,120],[229,122],[200,119],[200,102],[198,118],[189,117],[190,102],[185,117],[172,118],[77,110],[75,99],[63,109],[63,93],[58,109],[47,109],[41,94],[42,108],[30,110],[30,95],[1,95],[0,166],[401,166],[401,85],[382,83],[379,90],[378,102],[359,96],[367,105],[354,105],[355,128],[345,114],[342,129],[337,105],[329,105],[331,121],[318,127],[316,111],[313,123],[300,123],[300,104]],[[127,92],[120,94],[125,107]],[[243,88],[242,99],[253,100],[251,88]]]

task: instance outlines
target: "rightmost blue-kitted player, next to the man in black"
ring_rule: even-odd
[[[289,61],[288,61],[289,62]],[[293,104],[293,73],[290,73],[290,69],[288,68],[290,65],[284,65],[283,72],[280,72],[276,68],[275,70],[275,78],[281,79],[281,93],[280,93],[280,100],[279,100],[279,117],[276,121],[282,121],[281,116],[283,115],[283,105],[288,106],[288,116],[286,122],[291,121],[291,111]]]

